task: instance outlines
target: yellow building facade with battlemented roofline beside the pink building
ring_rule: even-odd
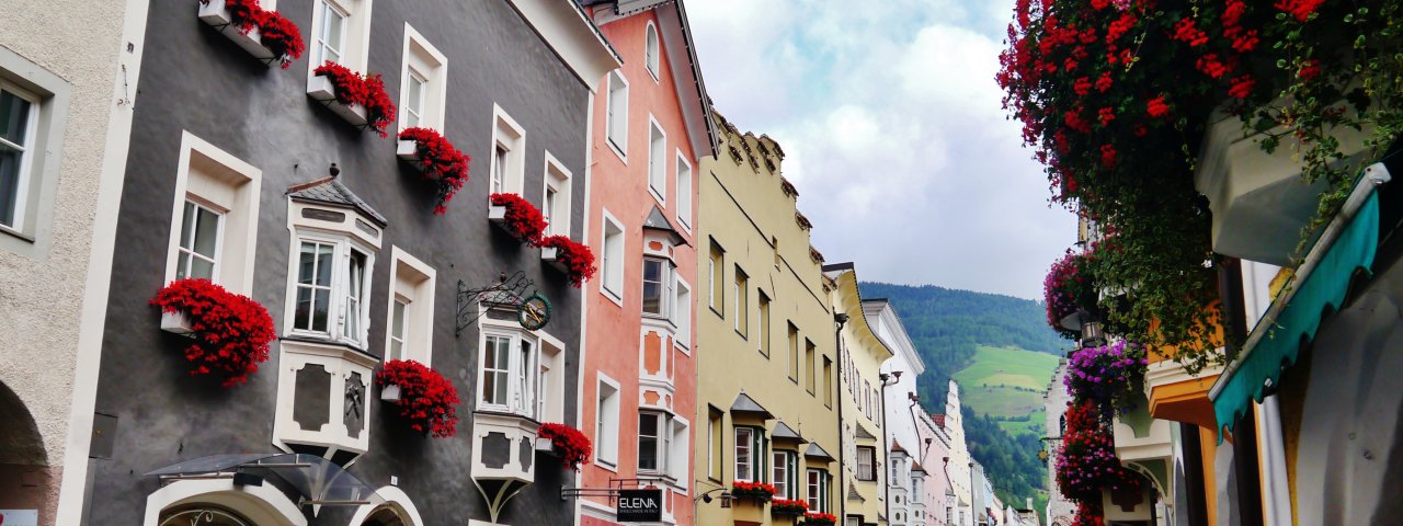
[[[706,380],[693,426],[696,523],[793,525],[777,499],[839,515],[836,324],[822,255],[780,175],[780,146],[714,116],[720,154],[697,170],[696,366]],[[749,483],[773,485],[776,501],[741,497]]]

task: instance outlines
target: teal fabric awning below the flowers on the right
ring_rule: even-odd
[[[1365,182],[1368,184],[1368,182]],[[1379,196],[1372,188],[1350,223],[1338,230],[1334,243],[1319,247],[1324,254],[1306,269],[1302,279],[1288,283],[1274,306],[1263,316],[1242,353],[1218,379],[1209,397],[1218,417],[1219,439],[1226,426],[1251,410],[1251,401],[1261,403],[1270,384],[1281,379],[1281,372],[1296,362],[1302,342],[1315,338],[1322,318],[1340,309],[1350,290],[1350,279],[1357,269],[1369,272],[1379,244]],[[1348,205],[1345,205],[1348,206]],[[1327,229],[1329,230],[1329,229]],[[1317,243],[1329,243],[1326,236]],[[1317,248],[1317,250],[1319,250]],[[1316,250],[1312,250],[1316,252]],[[1275,313],[1275,316],[1273,316]]]

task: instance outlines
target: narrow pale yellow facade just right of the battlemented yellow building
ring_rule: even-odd
[[[843,499],[842,525],[887,525],[887,436],[882,421],[882,362],[892,351],[873,332],[863,316],[853,264],[825,265],[832,281],[829,304],[842,323],[839,330],[839,384],[842,390],[843,473],[839,497]]]

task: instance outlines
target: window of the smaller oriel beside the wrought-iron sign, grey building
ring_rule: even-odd
[[[536,418],[540,341],[509,327],[483,327],[478,408]]]

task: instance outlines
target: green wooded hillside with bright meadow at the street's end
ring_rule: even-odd
[[[965,436],[1005,502],[1045,502],[1047,468],[1037,457],[1044,435],[1042,390],[1072,342],[1047,327],[1038,302],[946,289],[861,283],[863,299],[885,297],[926,363],[920,401],[946,404],[955,377],[964,390]]]

